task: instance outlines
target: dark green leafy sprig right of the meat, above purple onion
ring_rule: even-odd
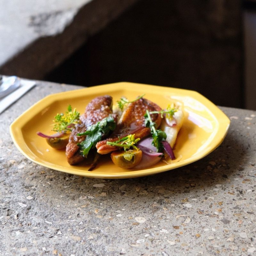
[[[152,112],[151,112],[152,113]],[[150,132],[152,134],[152,145],[157,148],[157,152],[163,152],[164,146],[161,141],[166,139],[166,133],[162,130],[156,130],[156,123],[152,121],[150,112],[146,110],[145,114],[145,125],[150,128]]]

